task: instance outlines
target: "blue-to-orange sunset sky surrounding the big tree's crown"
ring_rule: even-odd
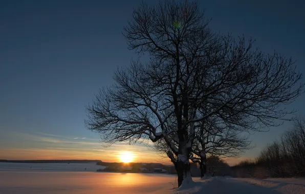
[[[157,1],[147,1],[149,5]],[[201,2],[201,1],[200,1]],[[84,128],[85,105],[113,83],[118,66],[133,51],[121,32],[141,0],[13,1],[0,6],[0,159],[98,159],[135,162],[168,159],[143,144],[102,146]],[[301,5],[302,4],[302,5]],[[210,27],[256,39],[255,46],[296,60],[305,73],[305,14],[302,1],[203,1]],[[304,95],[288,108],[305,115]],[[256,147],[238,160],[256,157],[291,124],[251,135]]]

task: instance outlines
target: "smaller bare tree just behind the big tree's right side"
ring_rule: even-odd
[[[245,150],[251,149],[248,136],[242,133],[242,129],[223,125],[223,122],[215,118],[210,122],[202,122],[193,142],[190,157],[193,162],[200,164],[201,177],[207,172],[208,158],[238,157]]]

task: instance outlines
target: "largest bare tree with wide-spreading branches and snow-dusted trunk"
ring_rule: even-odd
[[[252,49],[252,41],[214,34],[207,25],[195,2],[143,3],[123,34],[129,49],[150,61],[117,70],[115,84],[87,107],[86,127],[105,142],[163,139],[177,158],[179,186],[192,181],[197,125],[210,117],[248,130],[278,125],[275,119],[290,113],[280,105],[291,103],[302,88],[292,60],[264,55]]]

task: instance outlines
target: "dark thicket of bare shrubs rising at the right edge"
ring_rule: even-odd
[[[242,161],[232,167],[232,172],[235,177],[305,177],[305,118],[298,118],[255,161]]]

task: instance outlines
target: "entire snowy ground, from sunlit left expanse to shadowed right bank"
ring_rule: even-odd
[[[96,166],[95,164],[91,164],[91,166],[88,163],[69,164],[71,166],[68,166],[68,164],[32,164],[32,166],[29,166],[30,164],[13,165],[14,166],[12,166],[12,163],[0,163],[0,193],[2,194],[305,193],[305,179],[260,180],[214,177],[200,180],[199,178],[193,178],[196,182],[188,187],[172,189],[172,183],[177,181],[177,177],[172,175],[93,172],[95,168],[98,169],[100,166]],[[32,169],[30,169],[30,167],[32,167]],[[84,170],[85,167],[87,170]]]

